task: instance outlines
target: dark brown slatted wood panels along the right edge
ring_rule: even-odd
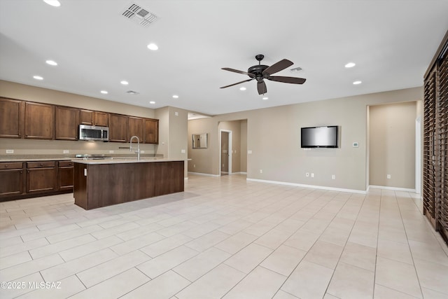
[[[423,107],[423,214],[448,243],[448,32],[426,71]]]

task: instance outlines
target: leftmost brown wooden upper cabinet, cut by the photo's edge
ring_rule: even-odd
[[[22,138],[24,102],[0,98],[0,138]]]

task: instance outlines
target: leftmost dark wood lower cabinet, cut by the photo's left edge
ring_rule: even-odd
[[[22,162],[0,162],[0,197],[25,193]]]

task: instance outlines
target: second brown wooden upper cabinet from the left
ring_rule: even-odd
[[[25,138],[53,139],[55,106],[25,102]]]

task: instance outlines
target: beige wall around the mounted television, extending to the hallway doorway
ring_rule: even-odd
[[[247,154],[248,179],[366,190],[367,106],[422,98],[423,88],[408,88],[190,120],[189,132],[209,133],[209,148],[195,150],[191,157],[196,167],[189,164],[189,170],[218,175],[218,123],[247,119],[247,150],[252,151]],[[340,147],[300,148],[300,127],[317,125],[339,125]],[[353,142],[359,147],[353,148]],[[306,172],[314,173],[314,178],[306,177]]]

